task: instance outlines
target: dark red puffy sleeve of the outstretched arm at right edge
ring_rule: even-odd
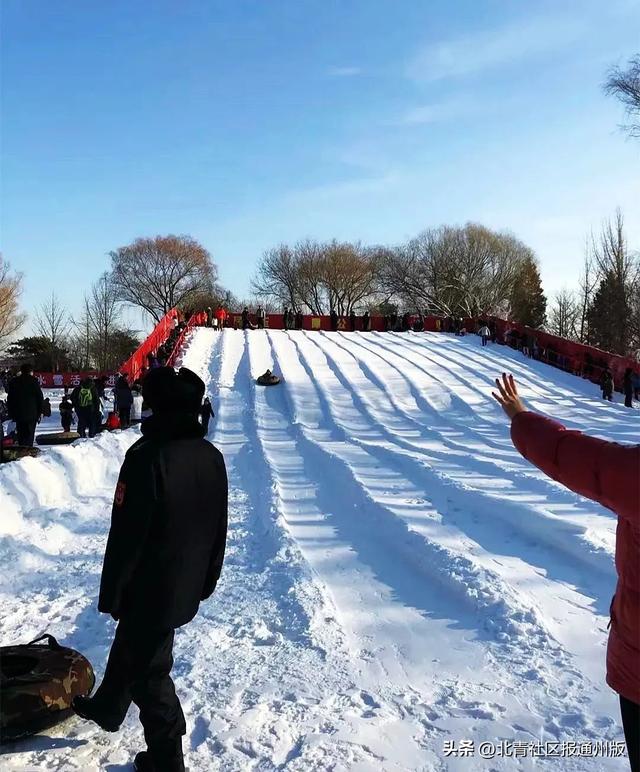
[[[640,523],[640,445],[588,437],[528,411],[511,422],[511,439],[549,477]]]

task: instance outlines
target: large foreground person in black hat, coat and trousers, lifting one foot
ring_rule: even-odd
[[[98,609],[118,627],[100,687],[73,703],[81,717],[116,731],[135,702],[148,748],[134,762],[141,772],[184,770],[174,633],[213,593],[224,558],[227,474],[220,451],[203,439],[203,394],[185,368],[145,378],[153,415],[120,470],[100,582]]]

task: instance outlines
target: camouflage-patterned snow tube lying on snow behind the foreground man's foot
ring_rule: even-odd
[[[0,647],[0,743],[64,721],[74,697],[90,694],[94,684],[89,660],[52,635]]]

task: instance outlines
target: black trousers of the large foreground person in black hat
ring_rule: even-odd
[[[172,629],[121,619],[94,699],[100,714],[115,724],[124,721],[135,702],[156,768],[182,772],[186,725],[170,675],[174,634]]]

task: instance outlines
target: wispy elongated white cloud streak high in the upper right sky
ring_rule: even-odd
[[[406,74],[416,81],[464,77],[521,59],[565,49],[586,26],[574,18],[538,18],[479,30],[429,44],[409,62]]]

